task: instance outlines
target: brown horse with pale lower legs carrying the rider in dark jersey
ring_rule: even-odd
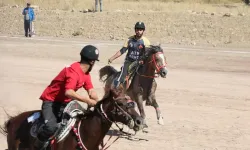
[[[146,105],[151,105],[155,108],[158,123],[163,125],[163,117],[155,98],[157,84],[154,78],[156,77],[156,74],[160,74],[163,78],[166,77],[166,58],[160,45],[146,48],[143,55],[144,64],[136,68],[135,74],[133,75],[131,84],[127,88],[126,93],[136,101],[141,116],[144,118],[145,127],[147,127],[147,125],[145,122],[146,115],[143,108],[144,100],[146,100]],[[113,82],[119,74],[120,72],[111,66],[105,66],[99,71],[100,80],[106,82],[105,88],[113,87]]]

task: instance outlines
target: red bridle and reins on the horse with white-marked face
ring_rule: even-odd
[[[138,72],[138,68],[137,68],[136,73],[137,73],[139,76],[146,77],[146,78],[157,78],[157,77],[159,77],[159,74],[160,74],[161,69],[164,68],[164,67],[166,67],[167,64],[165,63],[165,64],[159,66],[159,65],[156,63],[156,55],[157,55],[157,54],[163,54],[163,52],[154,53],[154,54],[152,55],[152,57],[151,57],[151,60],[148,62],[150,65],[154,65],[154,66],[155,66],[155,68],[156,68],[155,74],[157,74],[157,76],[148,76],[148,75],[140,74],[140,73]]]

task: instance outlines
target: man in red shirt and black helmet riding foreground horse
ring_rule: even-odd
[[[98,96],[94,91],[90,71],[95,61],[99,61],[99,50],[92,46],[85,46],[80,52],[81,60],[70,66],[64,67],[43,91],[40,99],[42,103],[42,116],[45,126],[38,133],[35,141],[36,149],[43,149],[48,140],[57,131],[57,123],[61,121],[61,115],[72,99],[85,102],[90,106],[97,103]],[[88,96],[81,96],[76,91],[83,87]]]

